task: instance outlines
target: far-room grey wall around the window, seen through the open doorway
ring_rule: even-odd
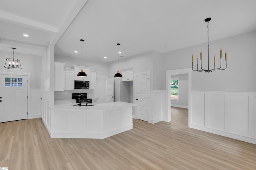
[[[171,78],[179,78],[179,100],[171,100],[171,106],[188,108],[188,74],[176,74]]]

